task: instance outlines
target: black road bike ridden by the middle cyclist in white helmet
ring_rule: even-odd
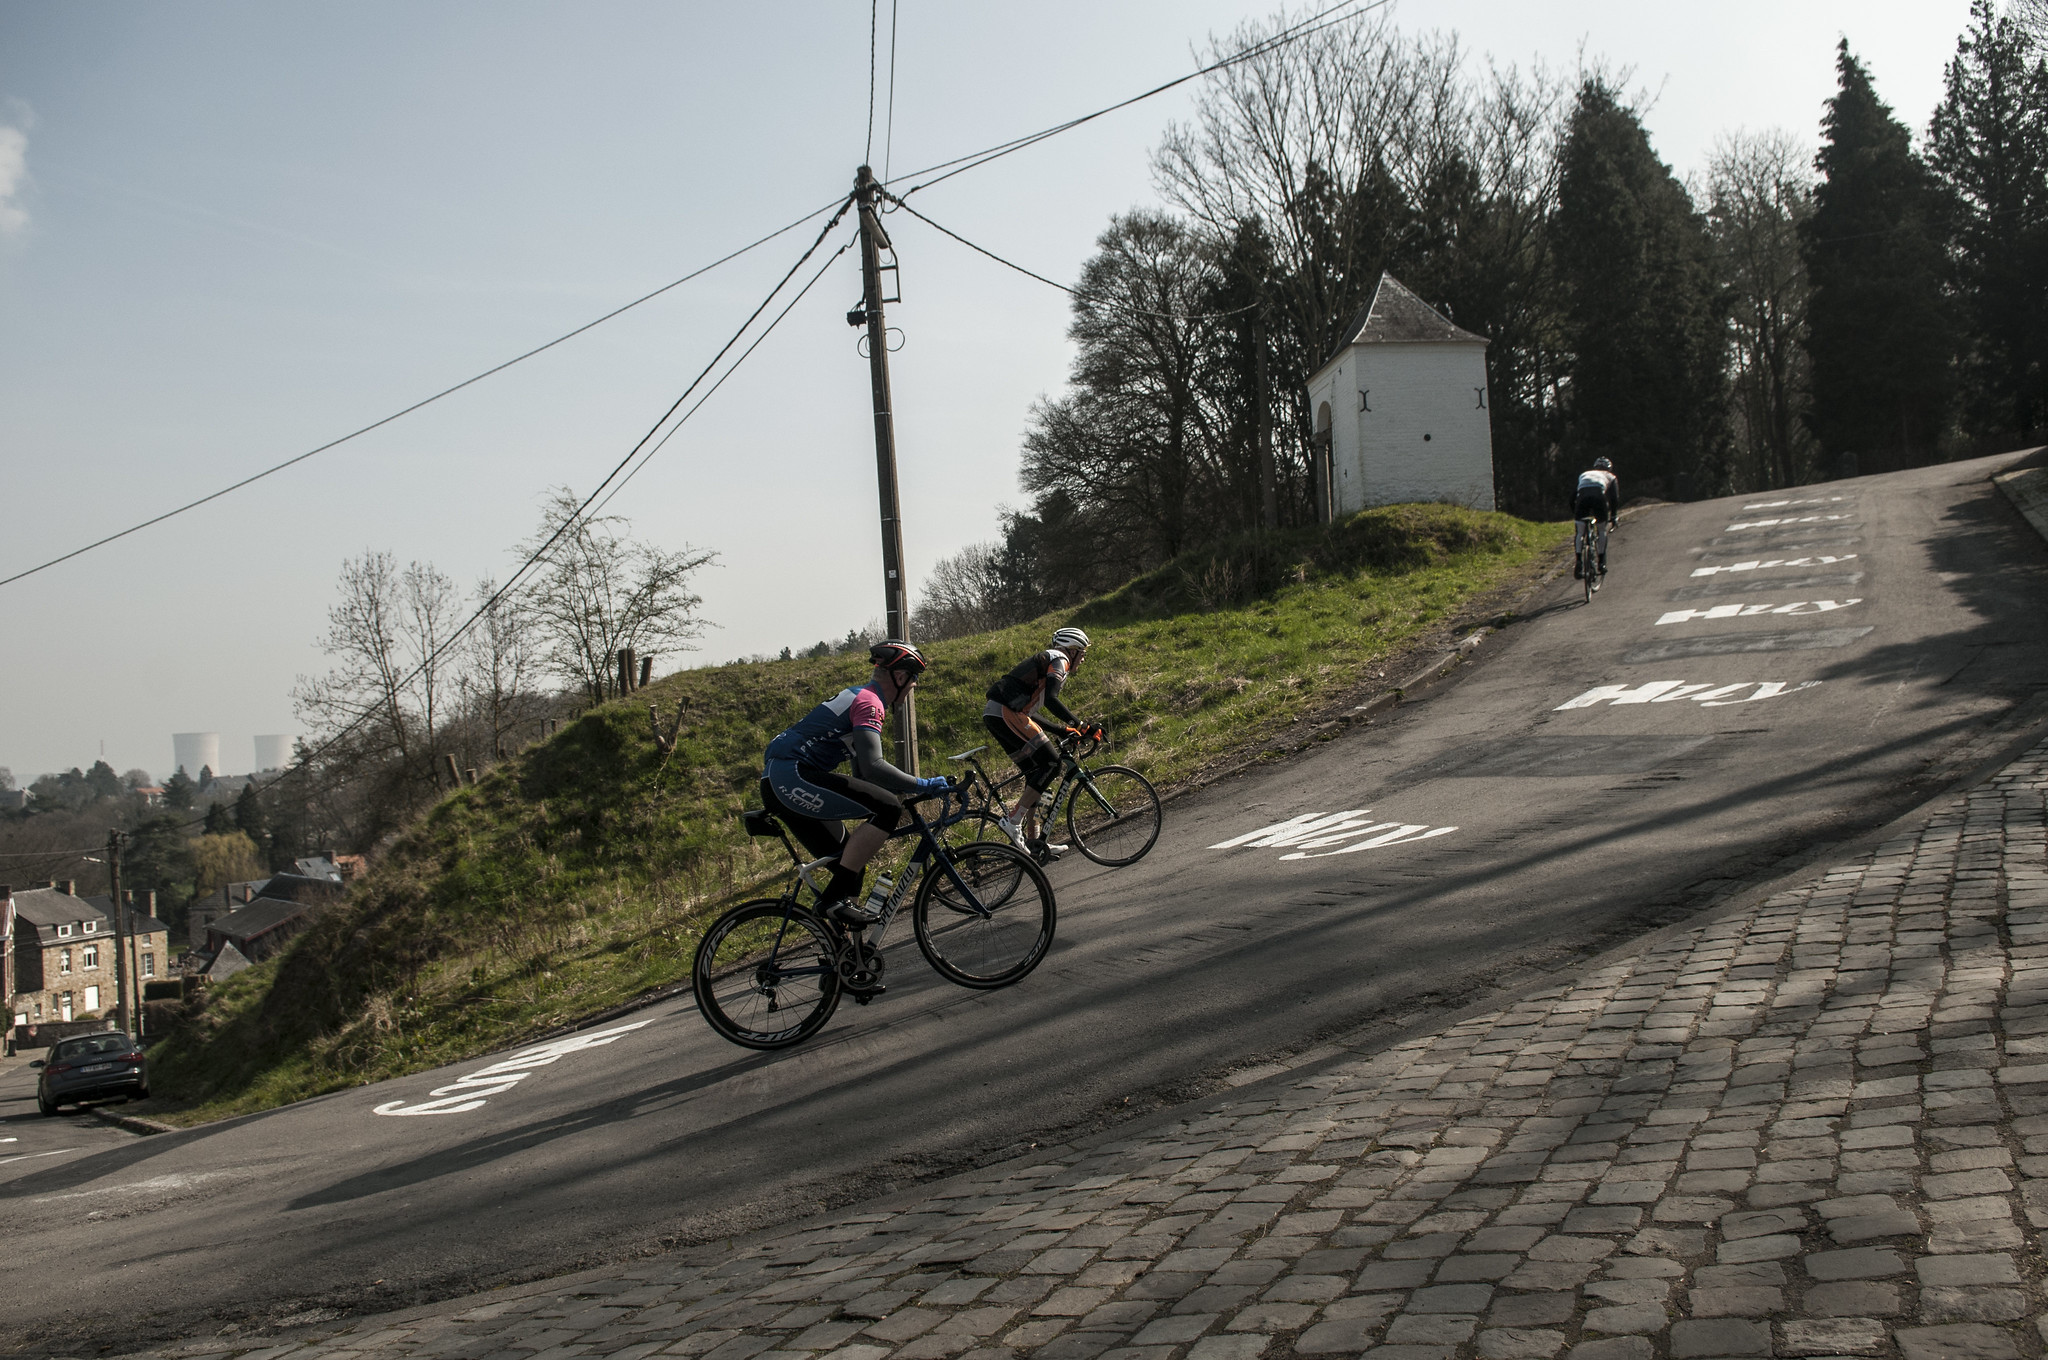
[[[1040,801],[1038,825],[1051,832],[1057,825],[1061,805],[1067,809],[1067,840],[1081,854],[1112,868],[1137,864],[1159,840],[1159,791],[1151,780],[1130,766],[1085,766],[1081,760],[1094,756],[1102,741],[1077,737],[1063,731],[1055,737],[1061,772],[1053,784],[1051,799]],[[1008,797],[1016,797],[1022,774],[995,782],[981,768],[977,756],[989,750],[977,746],[946,756],[967,764],[961,793],[967,809],[954,817],[946,840],[950,844],[1006,842],[995,819],[1008,807]]]

